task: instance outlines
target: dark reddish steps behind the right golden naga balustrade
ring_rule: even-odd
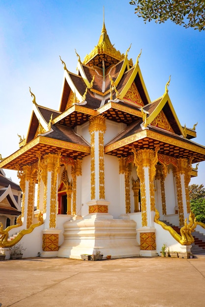
[[[170,224],[167,221],[162,221],[167,226],[171,226],[178,234],[180,234],[180,227]],[[194,243],[192,243],[191,253],[193,258],[205,258],[205,235],[199,231],[192,232]]]

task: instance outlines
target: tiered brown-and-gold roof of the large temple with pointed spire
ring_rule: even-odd
[[[205,160],[205,147],[190,141],[196,137],[194,128],[182,127],[169,97],[165,93],[151,102],[139,67],[128,59],[128,50],[121,54],[111,44],[105,24],[96,47],[81,62],[78,72],[64,68],[63,90],[59,111],[37,104],[33,97],[27,138],[20,149],[1,160],[0,167],[22,169],[37,162],[35,154],[58,153],[69,158],[90,154],[90,145],[74,128],[88,122],[90,116],[102,114],[106,119],[126,124],[126,128],[105,145],[105,153],[129,156],[132,147],[154,149],[175,158],[193,158],[192,163]]]

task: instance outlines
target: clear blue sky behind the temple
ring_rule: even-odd
[[[76,73],[75,49],[83,60],[97,44],[103,22],[112,44],[128,49],[140,68],[150,99],[160,97],[169,76],[169,95],[181,125],[196,128],[195,142],[205,145],[205,31],[171,22],[145,24],[129,0],[1,0],[0,1],[0,153],[18,150],[27,135],[36,102],[59,109],[63,66]],[[16,173],[5,170],[15,182]],[[205,162],[191,183],[205,185]]]

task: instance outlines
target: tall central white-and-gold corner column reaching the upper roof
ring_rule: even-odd
[[[103,115],[91,116],[89,119],[90,159],[91,159],[91,202],[89,213],[107,213],[105,202],[104,178],[104,133],[106,131]]]

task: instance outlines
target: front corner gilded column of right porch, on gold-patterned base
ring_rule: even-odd
[[[141,191],[141,211],[142,211],[142,229],[140,232],[140,249],[142,256],[156,255],[156,237],[154,228],[155,199],[154,199],[154,177],[156,175],[156,164],[158,161],[155,151],[143,149],[134,153],[134,163],[137,166],[137,175],[140,179]]]

